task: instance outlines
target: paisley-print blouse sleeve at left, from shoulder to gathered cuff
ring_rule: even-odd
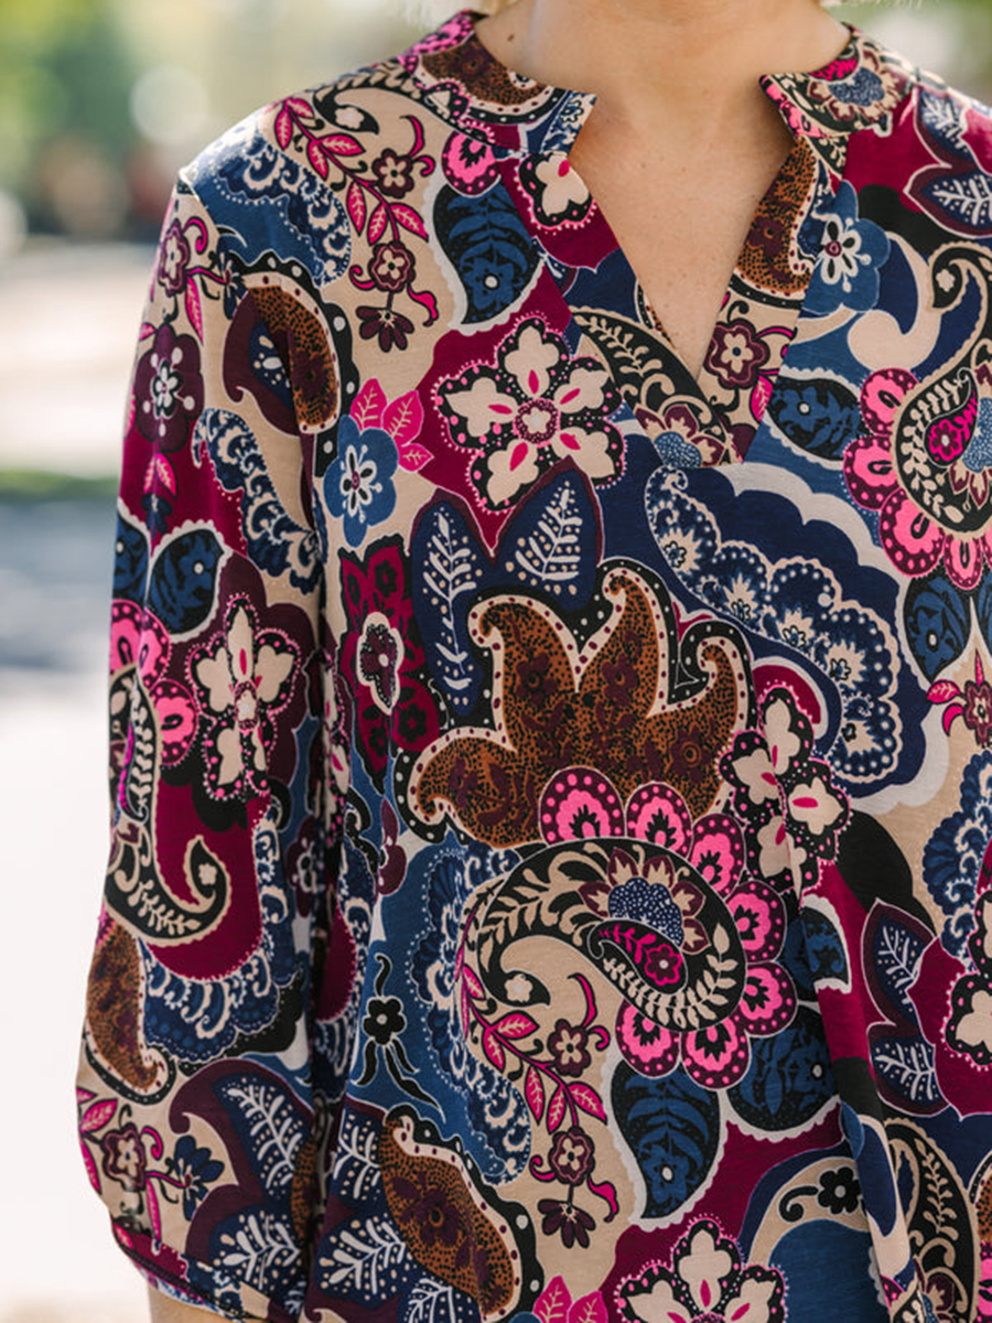
[[[312,1050],[341,787],[311,474],[337,400],[319,306],[259,266],[181,179],[124,441],[77,1097],[90,1183],[152,1285],[282,1320],[343,1088]]]

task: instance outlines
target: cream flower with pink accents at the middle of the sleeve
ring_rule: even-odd
[[[296,644],[279,630],[259,630],[254,607],[231,598],[224,628],[190,663],[200,700],[206,779],[217,799],[266,790],[274,717],[296,683]]]

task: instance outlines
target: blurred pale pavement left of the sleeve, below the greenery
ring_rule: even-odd
[[[74,1134],[73,1074],[107,849],[106,631],[131,343],[149,254],[0,267],[0,1323],[140,1323]],[[48,496],[13,496],[33,470]],[[30,486],[30,484],[28,484]]]

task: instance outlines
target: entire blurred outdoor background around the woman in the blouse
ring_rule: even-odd
[[[836,12],[992,101],[992,0]],[[0,1323],[144,1318],[71,1078],[106,856],[120,419],[172,179],[255,106],[425,26],[402,0],[0,0]]]

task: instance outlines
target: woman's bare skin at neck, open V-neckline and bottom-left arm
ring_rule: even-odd
[[[521,74],[597,94],[569,160],[698,376],[792,143],[758,78],[819,69],[847,30],[819,0],[517,0],[479,36]],[[149,1302],[152,1323],[204,1323],[157,1291]]]

